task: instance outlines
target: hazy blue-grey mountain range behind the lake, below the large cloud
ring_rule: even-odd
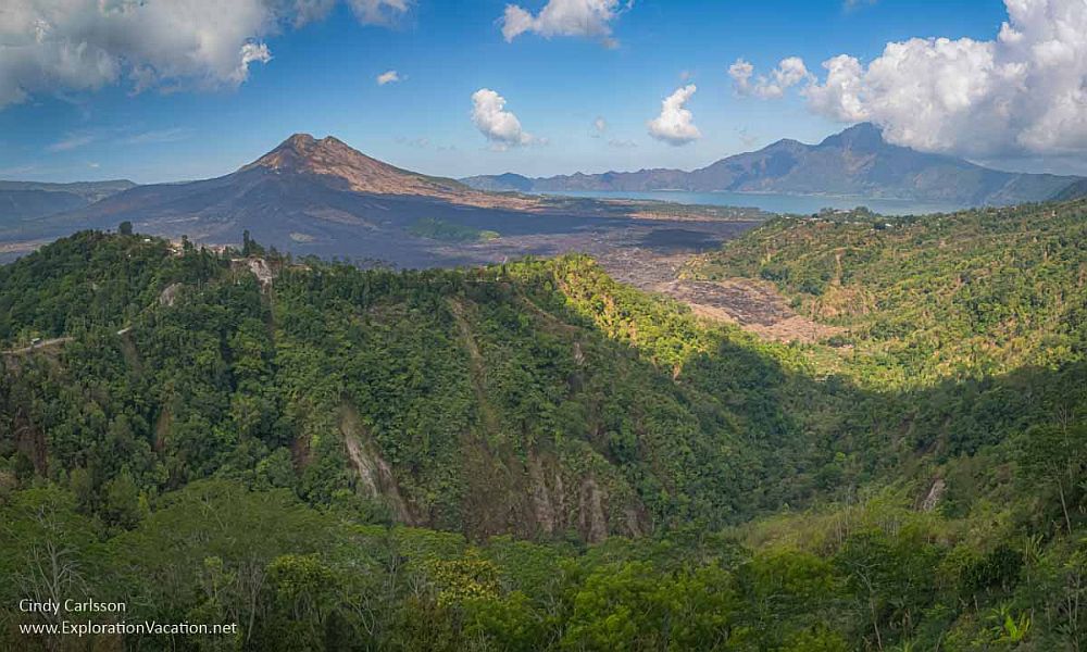
[[[1084,183],[1080,177],[1000,172],[962,159],[890,145],[869,123],[852,126],[819,145],[778,140],[757,152],[728,156],[691,172],[657,168],[546,178],[507,173],[461,180],[490,191],[775,192],[962,205],[1054,199]]]

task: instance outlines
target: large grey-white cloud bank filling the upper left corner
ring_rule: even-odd
[[[347,0],[387,22],[409,0]],[[336,0],[4,0],[0,108],[37,93],[237,86],[267,63],[264,39],[325,17]]]

